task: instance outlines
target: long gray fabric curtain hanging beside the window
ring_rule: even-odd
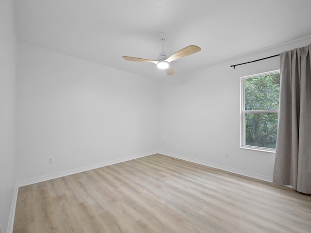
[[[311,44],[280,53],[281,82],[273,182],[311,194]]]

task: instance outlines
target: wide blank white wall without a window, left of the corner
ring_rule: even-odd
[[[155,153],[158,81],[22,42],[17,77],[19,183]]]

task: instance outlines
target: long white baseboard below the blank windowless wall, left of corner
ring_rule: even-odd
[[[26,186],[26,185],[33,184],[33,183],[48,181],[48,180],[52,180],[55,178],[59,178],[59,177],[68,176],[68,175],[72,175],[72,174],[83,172],[83,171],[96,169],[96,168],[103,167],[103,166],[109,166],[109,165],[129,161],[129,160],[133,160],[133,159],[138,159],[138,158],[145,157],[148,155],[156,154],[157,152],[158,151],[155,150],[155,151],[151,151],[148,153],[143,153],[143,154],[133,155],[133,156],[129,156],[129,157],[121,158],[121,159],[107,161],[107,162],[100,163],[100,164],[94,164],[94,165],[90,165],[90,166],[74,168],[74,169],[71,169],[68,171],[62,171],[62,172],[57,172],[57,173],[41,176],[41,177],[36,177],[33,179],[23,180],[23,181],[17,182],[17,186],[22,187],[22,186]]]

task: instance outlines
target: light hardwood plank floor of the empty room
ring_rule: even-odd
[[[155,154],[20,187],[14,233],[311,233],[311,196]]]

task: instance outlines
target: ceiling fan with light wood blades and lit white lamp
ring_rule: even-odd
[[[164,42],[166,41],[165,33],[160,34],[160,41],[162,41],[162,52],[160,53],[159,58],[157,60],[150,60],[150,59],[144,59],[144,58],[138,58],[138,57],[128,57],[128,56],[122,56],[122,57],[127,61],[154,63],[159,69],[164,69],[167,75],[172,75],[175,73],[175,71],[170,66],[171,62],[177,59],[189,56],[201,50],[201,48],[196,45],[190,45],[175,52],[173,55],[168,57],[166,52],[164,51]]]

